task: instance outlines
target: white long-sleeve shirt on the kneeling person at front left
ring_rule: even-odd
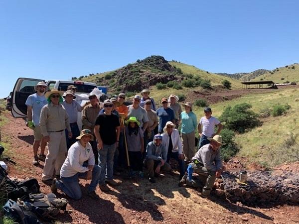
[[[72,177],[77,173],[85,173],[88,171],[87,167],[83,166],[83,163],[88,160],[88,165],[95,165],[95,156],[92,151],[90,143],[83,147],[80,141],[72,144],[68,150],[67,157],[61,167],[61,177]]]

